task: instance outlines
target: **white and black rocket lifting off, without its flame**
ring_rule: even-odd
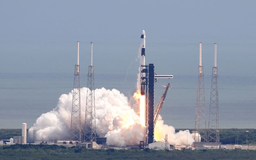
[[[145,74],[146,71],[146,68],[145,68],[145,41],[146,41],[146,34],[145,34],[145,31],[142,30],[142,33],[141,33],[141,53],[140,53],[140,94],[141,95],[145,95],[145,83],[146,83],[146,80],[145,80],[145,77],[143,76],[143,74]]]

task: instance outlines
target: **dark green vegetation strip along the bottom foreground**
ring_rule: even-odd
[[[253,159],[255,150],[115,150],[58,145],[0,146],[0,159]]]

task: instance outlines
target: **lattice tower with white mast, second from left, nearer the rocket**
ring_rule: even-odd
[[[94,73],[92,65],[92,42],[91,42],[91,65],[88,69],[86,111],[85,111],[85,141],[96,141],[95,121],[95,98],[94,98]]]

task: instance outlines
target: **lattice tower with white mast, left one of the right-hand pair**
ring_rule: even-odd
[[[202,43],[200,43],[199,51],[199,66],[198,66],[198,81],[197,81],[197,97],[196,97],[196,125],[195,125],[195,140],[196,133],[201,135],[201,141],[207,142],[206,138],[206,117],[204,107],[204,68],[202,66]]]

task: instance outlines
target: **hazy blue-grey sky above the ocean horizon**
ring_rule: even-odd
[[[137,73],[140,34],[157,73],[256,75],[256,1],[0,1],[0,72]]]

